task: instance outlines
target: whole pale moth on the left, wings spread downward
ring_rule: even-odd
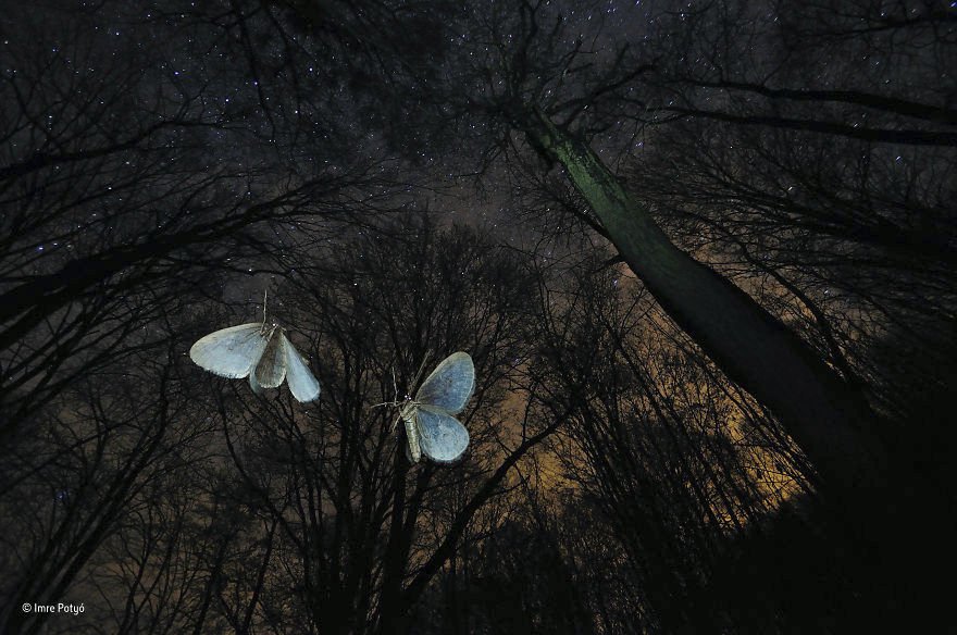
[[[221,377],[249,377],[249,386],[257,394],[263,388],[277,388],[286,381],[297,400],[304,403],[319,398],[319,382],[286,337],[285,329],[266,322],[265,302],[262,322],[211,333],[192,345],[189,358]]]

